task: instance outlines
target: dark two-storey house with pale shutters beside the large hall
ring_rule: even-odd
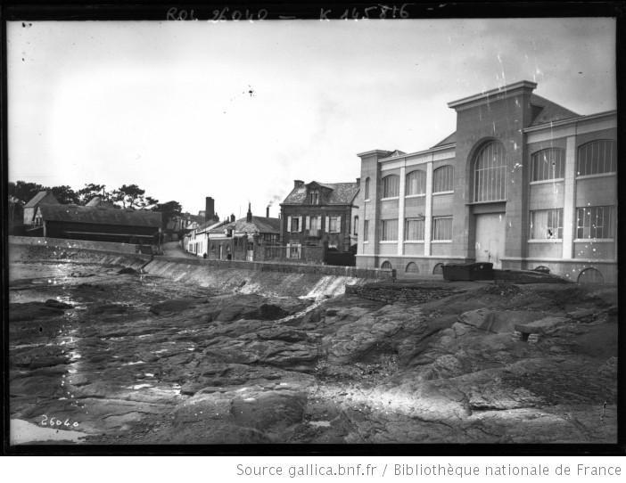
[[[280,204],[281,241],[287,258],[301,258],[303,247],[348,252],[356,245],[359,181],[293,182],[292,192]]]

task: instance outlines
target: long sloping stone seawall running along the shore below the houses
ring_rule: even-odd
[[[169,278],[215,291],[256,293],[268,297],[334,297],[346,285],[375,282],[389,271],[353,266],[311,266],[269,262],[218,261],[203,258],[151,257],[121,243],[9,237],[11,262],[57,259],[129,266],[144,274]],[[130,252],[128,247],[132,247]],[[112,250],[119,248],[119,250]]]

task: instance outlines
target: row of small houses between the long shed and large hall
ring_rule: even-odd
[[[253,216],[205,224],[185,238],[186,250],[217,260],[354,265],[358,234],[355,183],[305,184],[295,180],[280,217]]]

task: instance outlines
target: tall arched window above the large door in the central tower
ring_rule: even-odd
[[[474,201],[501,201],[507,198],[507,159],[502,144],[486,143],[473,162]]]

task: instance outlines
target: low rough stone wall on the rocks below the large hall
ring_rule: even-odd
[[[414,302],[424,304],[434,299],[449,297],[457,289],[427,284],[402,283],[365,283],[346,287],[346,294],[356,295],[361,299],[376,300],[391,304],[393,302]]]

